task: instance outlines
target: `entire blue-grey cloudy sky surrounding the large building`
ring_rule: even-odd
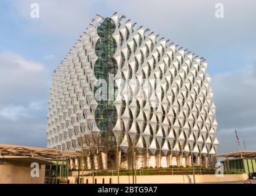
[[[39,18],[31,18],[31,3]],[[224,18],[216,18],[222,3]],[[234,128],[256,150],[255,0],[1,0],[0,143],[46,147],[52,71],[98,13],[126,15],[207,59],[218,153],[236,151]]]

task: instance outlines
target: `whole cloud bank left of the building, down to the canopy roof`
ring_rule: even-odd
[[[0,53],[0,142],[44,146],[51,74],[43,64]]]

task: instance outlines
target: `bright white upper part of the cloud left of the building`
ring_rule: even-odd
[[[12,53],[0,53],[0,108],[28,97],[46,97],[50,83],[49,71],[43,64]],[[20,104],[18,104],[20,105]]]

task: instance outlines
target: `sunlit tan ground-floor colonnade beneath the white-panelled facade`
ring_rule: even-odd
[[[108,160],[108,156],[108,153],[101,152],[100,154],[94,155],[93,157],[85,157],[84,169],[92,170],[92,164],[94,164],[95,170],[113,170],[116,169],[117,167],[124,170],[132,169],[132,153],[123,154],[121,151],[118,151],[117,153],[114,153],[113,156],[115,158],[112,162]],[[194,165],[202,165],[204,167],[207,167],[209,165],[208,159],[208,157],[202,157],[202,159],[199,156],[194,157]],[[153,155],[149,153],[134,153],[134,168],[137,169],[143,167],[168,168],[170,165],[177,165],[179,167],[190,167],[191,164],[191,156],[175,156],[171,154],[164,156],[162,154]],[[70,170],[72,169],[78,169],[78,159],[70,159]]]

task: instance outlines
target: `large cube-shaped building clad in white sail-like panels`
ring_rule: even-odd
[[[207,165],[218,124],[206,60],[123,21],[97,15],[54,71],[47,147],[81,151],[89,169]]]

